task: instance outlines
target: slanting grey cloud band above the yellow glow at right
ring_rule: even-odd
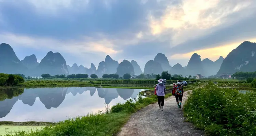
[[[234,16],[236,16],[236,14],[230,15],[229,17],[232,18]],[[232,41],[236,41],[239,39],[256,38],[255,22],[256,12],[254,12],[251,16],[243,18],[242,20],[234,24],[226,24],[226,27],[214,27],[212,29],[216,29],[216,31],[214,31],[213,33],[201,36],[193,40],[185,41],[184,43],[179,44],[176,47],[181,47],[183,52],[187,53],[199,49],[217,47],[225,43],[232,43]]]

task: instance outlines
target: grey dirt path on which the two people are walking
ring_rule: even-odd
[[[188,91],[184,92],[183,104]],[[175,97],[165,100],[163,112],[158,103],[149,105],[133,114],[118,136],[203,136],[193,124],[184,122],[182,109],[177,107]]]

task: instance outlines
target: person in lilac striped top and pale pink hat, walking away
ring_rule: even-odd
[[[165,102],[165,92],[166,92],[166,79],[159,79],[158,84],[156,85],[156,95],[158,99],[158,105],[159,105],[159,110],[163,111],[163,104]]]

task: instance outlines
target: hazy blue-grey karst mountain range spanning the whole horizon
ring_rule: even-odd
[[[201,61],[201,56],[194,53],[188,65],[184,67],[179,63],[171,67],[165,54],[158,53],[154,60],[150,60],[145,64],[143,73],[161,74],[162,71],[168,70],[172,75],[195,76],[196,74],[202,74],[208,77],[215,75],[217,72],[217,74],[232,74],[237,71],[256,71],[254,66],[256,64],[255,52],[256,43],[244,41],[236,49],[232,50],[225,59],[220,56],[215,62],[209,58]],[[99,63],[98,70],[93,63],[91,63],[89,69],[77,64],[73,64],[70,67],[60,53],[53,53],[52,51],[48,52],[40,63],[37,62],[37,57],[34,54],[26,56],[24,60],[20,61],[10,45],[4,43],[0,45],[0,73],[22,73],[26,76],[40,76],[44,73],[51,75],[87,73],[88,75],[97,74],[98,77],[105,73],[118,73],[120,76],[123,76],[124,72],[128,72],[131,75],[142,73],[140,66],[134,60],[131,62],[124,60],[123,64],[120,64],[107,55],[105,60]]]

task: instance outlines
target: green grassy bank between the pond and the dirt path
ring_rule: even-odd
[[[80,136],[97,135],[112,136],[116,134],[128,121],[130,115],[139,109],[157,102],[156,96],[142,98],[140,96],[135,103],[132,100],[124,104],[117,104],[112,108],[106,107],[106,111],[90,114],[75,119],[65,120],[55,125],[49,125],[42,130],[31,133],[9,133],[6,136]]]

